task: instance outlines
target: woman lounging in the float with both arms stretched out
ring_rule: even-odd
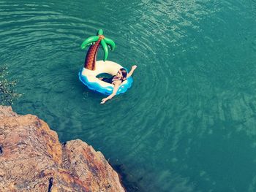
[[[105,104],[105,101],[108,101],[109,99],[112,99],[113,96],[116,96],[116,92],[118,91],[118,88],[121,85],[121,83],[128,77],[130,77],[136,68],[136,65],[132,66],[132,69],[128,74],[127,70],[122,68],[119,69],[117,74],[111,78],[99,78],[102,81],[109,82],[114,85],[113,92],[108,97],[102,99],[102,102],[100,104]]]

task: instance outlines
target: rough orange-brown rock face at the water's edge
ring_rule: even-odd
[[[124,191],[100,152],[81,140],[61,145],[34,115],[0,106],[0,191]]]

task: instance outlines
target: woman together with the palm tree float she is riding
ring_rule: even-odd
[[[79,72],[79,79],[89,89],[108,95],[102,99],[101,104],[112,99],[120,93],[125,93],[132,86],[132,73],[137,66],[132,66],[128,73],[123,66],[113,61],[107,61],[108,52],[116,47],[112,39],[108,39],[103,35],[102,29],[99,29],[96,36],[88,37],[81,45],[82,49],[89,46],[86,54],[83,69]],[[103,61],[97,61],[97,52],[99,47],[104,51]],[[117,73],[116,73],[117,72]],[[110,74],[111,78],[98,78],[101,74]]]

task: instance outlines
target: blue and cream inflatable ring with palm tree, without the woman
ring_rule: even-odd
[[[106,61],[108,58],[108,50],[114,50],[116,44],[115,42],[113,42],[113,40],[104,37],[102,29],[99,29],[99,31],[97,32],[97,36],[92,36],[84,40],[81,48],[85,49],[88,46],[90,47],[86,54],[84,67],[80,70],[78,74],[79,79],[89,89],[97,91],[99,93],[110,95],[111,93],[113,93],[113,85],[108,82],[99,80],[97,76],[99,74],[110,74],[114,76],[117,74],[119,69],[123,68],[123,66],[116,64],[113,61]],[[102,46],[102,49],[104,51],[104,59],[103,61],[96,61],[97,53],[100,46]],[[124,82],[121,83],[116,94],[118,95],[120,93],[126,92],[127,89],[131,86],[132,77],[129,77],[127,78],[127,80],[124,80]]]

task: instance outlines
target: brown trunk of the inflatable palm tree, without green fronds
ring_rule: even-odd
[[[99,39],[94,45],[91,45],[89,48],[86,60],[84,61],[84,68],[94,71],[95,70],[95,63],[97,60],[97,52],[99,50],[99,42],[104,39],[104,36],[99,36]]]

